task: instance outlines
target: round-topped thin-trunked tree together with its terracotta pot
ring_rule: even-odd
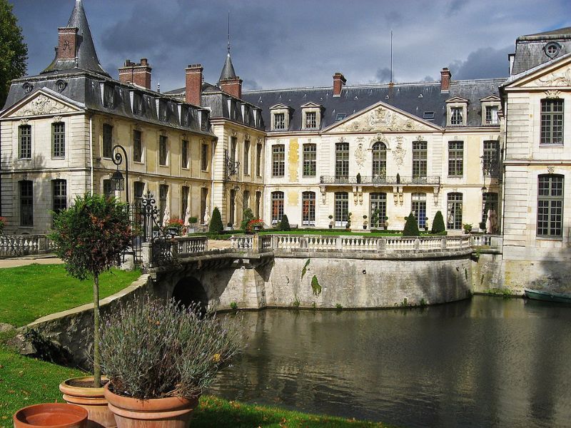
[[[93,278],[94,292],[94,376],[67,379],[60,385],[64,399],[89,412],[89,420],[113,427],[103,397],[99,362],[99,275],[116,265],[131,245],[133,232],[125,204],[103,195],[79,195],[66,210],[54,213],[54,231],[49,238],[54,252],[64,260],[69,275],[79,280]]]

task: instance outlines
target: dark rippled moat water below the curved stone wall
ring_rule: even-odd
[[[248,347],[210,388],[221,397],[397,427],[571,426],[571,307],[241,315]]]

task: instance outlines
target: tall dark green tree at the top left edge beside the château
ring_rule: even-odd
[[[26,74],[28,46],[8,0],[0,0],[0,108],[4,106],[10,81]]]

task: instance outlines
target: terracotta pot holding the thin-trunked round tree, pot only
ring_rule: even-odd
[[[103,378],[103,380],[107,380]],[[107,406],[107,399],[103,395],[103,387],[89,387],[94,377],[74,377],[59,384],[59,390],[64,394],[64,400],[76,404],[87,410],[89,417],[86,428],[114,428],[117,426],[113,412]],[[86,384],[77,386],[74,384]]]

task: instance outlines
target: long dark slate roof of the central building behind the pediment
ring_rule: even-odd
[[[446,126],[446,100],[455,96],[468,99],[467,126],[482,126],[480,99],[499,96],[498,86],[505,78],[452,81],[449,93],[441,93],[440,81],[418,83],[373,84],[345,86],[340,97],[333,97],[331,86],[290,88],[270,91],[244,91],[242,98],[262,108],[266,131],[270,131],[270,108],[283,104],[292,108],[288,131],[301,130],[301,108],[313,102],[322,106],[321,129],[362,111],[379,101],[395,106],[438,126]],[[428,113],[428,116],[425,115]],[[433,119],[430,119],[433,113]]]

